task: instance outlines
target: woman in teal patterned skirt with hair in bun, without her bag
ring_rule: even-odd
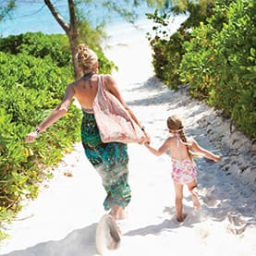
[[[130,201],[127,144],[102,142],[92,109],[92,103],[97,94],[100,79],[100,76],[97,74],[98,57],[85,44],[80,44],[77,59],[79,68],[84,75],[67,86],[62,103],[55,108],[52,114],[38,128],[30,132],[25,140],[28,143],[36,140],[46,128],[53,125],[55,121],[67,113],[71,100],[76,98],[81,105],[83,113],[81,140],[84,152],[103,178],[104,189],[107,193],[104,200],[104,209],[106,211],[110,210],[110,214],[117,220],[124,216],[124,209]],[[124,105],[129,115],[143,130],[145,140],[149,140],[145,129],[125,103],[115,79],[111,75],[102,76],[105,89],[114,94],[120,103]]]

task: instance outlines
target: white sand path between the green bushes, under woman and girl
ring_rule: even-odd
[[[185,189],[188,217],[178,224],[168,156],[156,157],[143,146],[129,145],[132,201],[122,224],[121,247],[110,255],[256,255],[256,174],[250,141],[238,132],[230,135],[230,122],[191,100],[186,88],[170,91],[153,78],[151,51],[143,38],[114,45],[107,56],[119,66],[119,87],[151,134],[152,145],[158,147],[165,140],[166,117],[176,113],[186,119],[189,135],[223,155],[217,164],[197,161],[201,210],[193,210]],[[65,176],[67,171],[73,177]],[[80,144],[54,173],[39,197],[28,202],[9,226],[12,238],[2,243],[0,255],[98,255],[94,236],[104,214],[105,194]]]

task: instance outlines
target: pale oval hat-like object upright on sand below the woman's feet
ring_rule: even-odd
[[[101,255],[109,250],[119,248],[121,232],[116,221],[110,214],[105,214],[99,221],[96,228],[95,244]]]

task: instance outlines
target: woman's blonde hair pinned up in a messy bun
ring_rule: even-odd
[[[78,47],[77,60],[79,67],[84,73],[94,70],[95,64],[98,62],[98,56],[86,44],[81,43]]]

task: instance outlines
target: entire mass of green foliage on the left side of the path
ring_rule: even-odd
[[[26,33],[0,39],[0,228],[20,210],[20,201],[35,198],[49,166],[57,165],[79,141],[80,110],[72,105],[34,143],[25,135],[60,103],[72,81],[71,54],[65,35]],[[115,67],[98,52],[101,71]],[[1,235],[0,230],[0,239]]]

